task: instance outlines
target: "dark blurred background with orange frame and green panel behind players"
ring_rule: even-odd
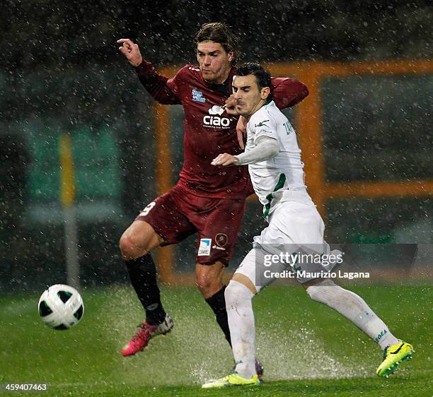
[[[116,40],[137,41],[144,57],[172,76],[195,63],[192,37],[209,21],[233,26],[242,61],[260,61],[274,76],[294,76],[310,88],[286,114],[298,129],[309,191],[329,242],[432,243],[432,11],[427,0],[254,6],[6,0],[0,22],[1,292],[67,280],[61,136],[70,137],[74,162],[81,283],[129,282],[118,240],[177,180],[183,109],[154,105]],[[250,200],[233,268],[264,227],[260,214]],[[193,270],[194,245],[192,237],[161,249],[160,261],[170,269],[166,280],[178,278],[173,271]]]

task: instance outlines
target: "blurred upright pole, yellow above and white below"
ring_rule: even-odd
[[[64,216],[64,250],[67,262],[67,284],[80,286],[78,251],[78,227],[75,216],[74,158],[71,136],[62,134],[59,141],[60,156],[60,200]]]

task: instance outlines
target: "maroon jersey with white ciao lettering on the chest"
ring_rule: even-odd
[[[226,83],[213,85],[204,81],[197,66],[185,65],[173,78],[159,74],[143,61],[137,74],[144,88],[163,105],[183,105],[185,111],[184,162],[178,184],[198,196],[243,198],[253,189],[248,167],[215,167],[211,161],[219,153],[242,152],[236,136],[238,117],[223,109],[231,95],[232,68]],[[272,100],[280,109],[296,105],[308,95],[306,85],[292,78],[272,78]]]

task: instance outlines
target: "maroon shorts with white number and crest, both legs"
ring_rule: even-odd
[[[198,232],[195,245],[197,263],[229,264],[241,228],[246,200],[207,198],[173,186],[139,213],[160,235],[165,244],[176,244]]]

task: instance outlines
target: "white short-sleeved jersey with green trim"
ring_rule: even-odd
[[[304,163],[296,132],[274,101],[263,105],[247,124],[246,152],[255,148],[260,136],[274,138],[279,144],[275,158],[248,165],[255,193],[263,204],[265,218],[281,201],[309,201],[304,184]]]

